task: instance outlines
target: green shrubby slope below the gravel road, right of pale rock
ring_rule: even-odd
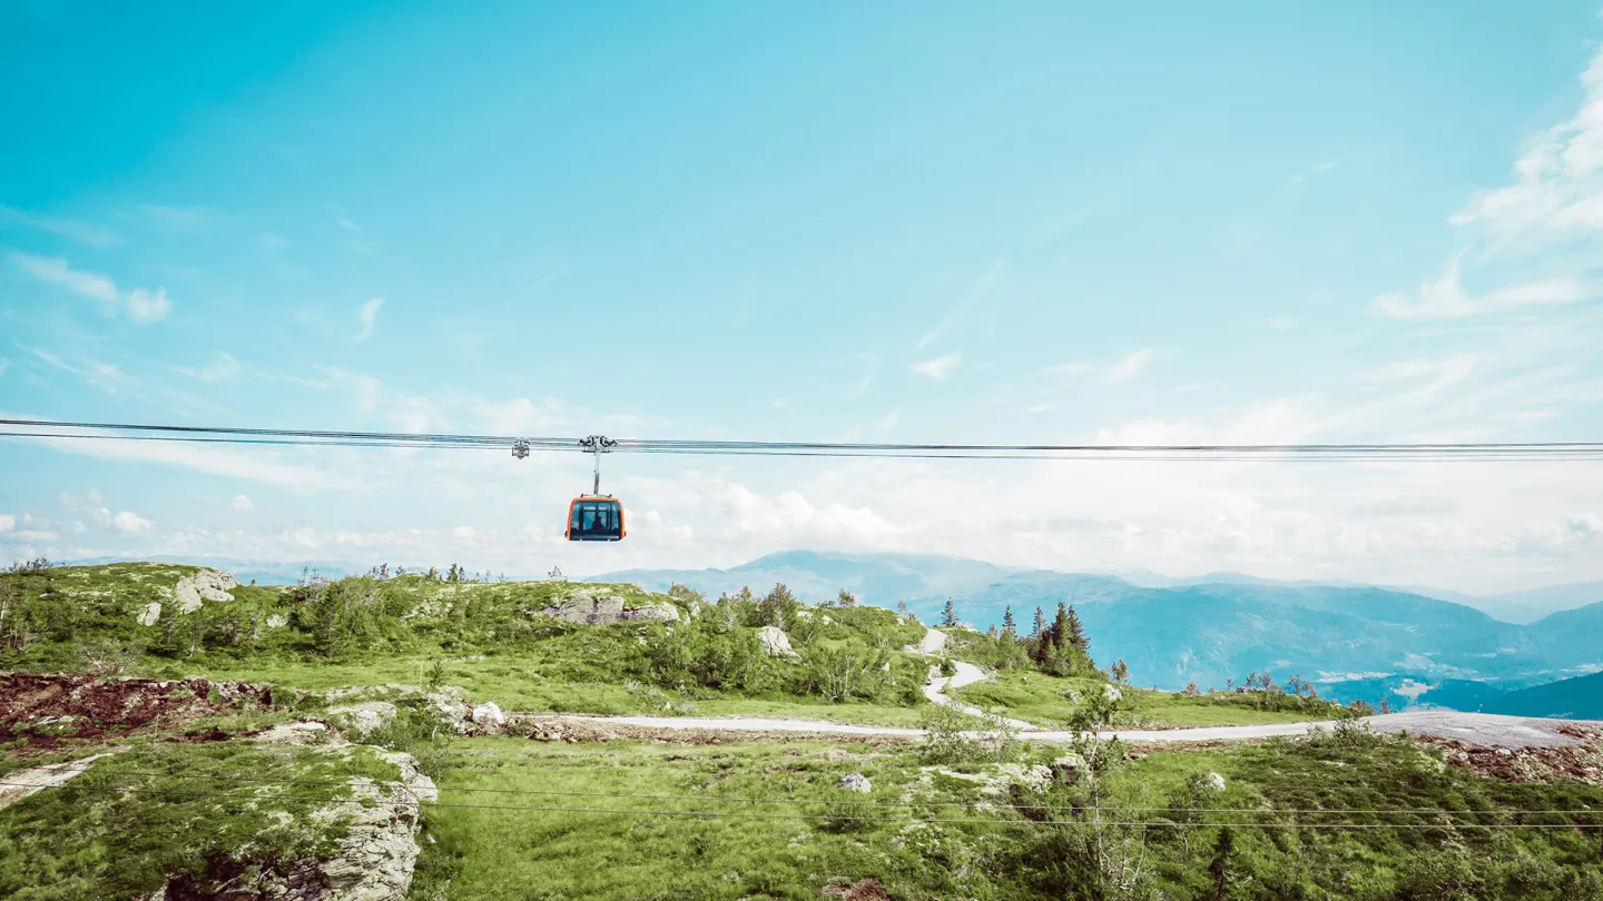
[[[1114,715],[1088,707],[1084,726]],[[439,774],[447,800],[511,789],[532,794],[495,803],[567,810],[431,810],[439,845],[420,880],[452,899],[802,899],[867,877],[904,901],[1568,901],[1603,890],[1595,832],[1486,829],[1603,827],[1603,813],[1510,813],[1603,810],[1603,789],[1478,779],[1407,739],[1342,728],[1145,757],[1108,742],[1064,755],[992,742],[952,752],[941,741],[460,741]],[[862,773],[874,792],[837,789],[845,773]],[[1374,813],[1335,813],[1350,810]],[[1321,827],[1342,822],[1407,829]]]

